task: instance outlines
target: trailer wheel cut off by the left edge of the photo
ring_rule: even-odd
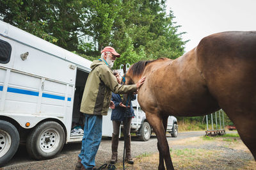
[[[20,135],[8,121],[0,120],[0,167],[6,164],[18,150]]]

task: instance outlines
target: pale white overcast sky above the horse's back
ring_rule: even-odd
[[[185,51],[200,40],[222,31],[256,31],[256,0],[167,0],[179,32],[186,43]]]

